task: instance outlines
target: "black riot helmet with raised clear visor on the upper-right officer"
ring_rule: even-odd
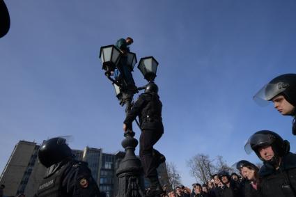
[[[282,74],[275,77],[263,86],[253,98],[258,104],[265,104],[266,102],[260,101],[270,101],[279,94],[282,94],[290,104],[296,107],[296,74]]]

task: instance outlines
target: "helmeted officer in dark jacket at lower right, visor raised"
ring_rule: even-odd
[[[259,170],[262,196],[296,196],[296,155],[289,152],[288,141],[262,130],[253,134],[244,148],[248,154],[254,150],[263,161]]]

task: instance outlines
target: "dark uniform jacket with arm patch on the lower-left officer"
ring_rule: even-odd
[[[100,190],[87,163],[66,159],[48,168],[36,197],[99,197]]]

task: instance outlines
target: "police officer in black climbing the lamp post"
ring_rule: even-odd
[[[139,155],[144,174],[150,180],[148,196],[157,196],[163,193],[156,169],[159,164],[165,161],[165,157],[153,148],[153,145],[159,141],[164,133],[162,102],[160,102],[157,93],[157,85],[150,82],[145,88],[145,93],[139,95],[123,122],[123,130],[127,132],[128,129],[132,128],[132,121],[139,116],[141,127]]]

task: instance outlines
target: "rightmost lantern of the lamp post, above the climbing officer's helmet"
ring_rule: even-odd
[[[141,58],[138,68],[141,70],[144,78],[153,81],[156,77],[158,62],[153,56]]]

